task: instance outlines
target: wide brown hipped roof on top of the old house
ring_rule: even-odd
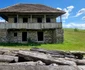
[[[54,9],[41,4],[16,4],[3,9],[0,9],[0,13],[60,13],[65,12],[59,9]]]

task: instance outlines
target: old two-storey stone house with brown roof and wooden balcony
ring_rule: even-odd
[[[0,42],[62,43],[65,12],[41,4],[16,4],[0,9]],[[56,22],[56,18],[59,22]]]

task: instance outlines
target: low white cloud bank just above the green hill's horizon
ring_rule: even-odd
[[[69,23],[69,24],[63,24],[63,28],[78,28],[78,29],[85,29],[85,24],[76,24],[76,23]]]

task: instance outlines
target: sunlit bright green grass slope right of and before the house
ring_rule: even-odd
[[[64,29],[63,44],[42,44],[42,48],[85,51],[85,30]]]

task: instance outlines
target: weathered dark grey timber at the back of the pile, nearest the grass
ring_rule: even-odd
[[[65,51],[60,51],[60,50],[45,50],[41,48],[32,48],[30,49],[30,51],[37,51],[37,52],[41,52],[45,54],[51,54],[52,57],[60,57],[60,58],[64,58],[64,57],[74,58],[75,57],[74,55],[70,53],[67,53]]]

